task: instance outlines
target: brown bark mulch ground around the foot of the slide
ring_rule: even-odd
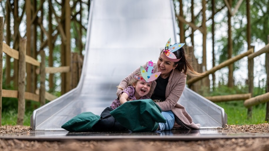
[[[30,132],[26,126],[1,126],[0,133],[23,133]],[[226,125],[226,128],[218,128],[220,132],[227,133],[269,133],[269,124],[257,125]],[[116,140],[116,141],[77,141],[64,142],[48,141],[25,141],[0,139],[0,150],[66,150],[66,151],[268,151],[269,138],[239,138],[239,139],[215,139],[200,141],[140,141],[140,140]]]

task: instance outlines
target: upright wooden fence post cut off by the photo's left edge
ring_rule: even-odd
[[[2,126],[3,19],[4,17],[0,17],[0,126]]]

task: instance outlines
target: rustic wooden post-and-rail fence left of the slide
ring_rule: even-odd
[[[2,97],[18,98],[18,119],[17,124],[23,125],[24,113],[25,113],[25,99],[40,102],[40,105],[44,105],[45,101],[52,101],[57,98],[52,94],[46,92],[45,80],[46,73],[66,73],[71,72],[71,68],[76,70],[76,73],[72,74],[71,88],[75,88],[78,84],[78,79],[81,74],[81,68],[83,60],[78,61],[78,55],[73,54],[73,64],[65,67],[45,67],[46,56],[44,50],[40,50],[41,62],[26,55],[26,39],[20,38],[19,51],[9,47],[6,43],[3,43],[3,17],[0,17],[0,126],[2,125]],[[3,79],[3,52],[16,60],[19,60],[19,76],[18,76],[18,91],[17,90],[5,90],[2,89]],[[26,85],[26,62],[39,67],[36,69],[36,73],[40,74],[40,88],[36,89],[35,94],[25,92]]]

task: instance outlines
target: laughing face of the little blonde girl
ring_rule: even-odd
[[[142,96],[148,94],[151,89],[151,82],[138,81],[136,83],[133,83],[133,87],[136,90],[135,97],[137,100],[139,100]]]

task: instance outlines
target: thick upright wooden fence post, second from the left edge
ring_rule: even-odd
[[[18,120],[17,125],[23,125],[25,112],[25,72],[26,72],[26,39],[20,38],[19,43],[19,77],[18,77]]]

